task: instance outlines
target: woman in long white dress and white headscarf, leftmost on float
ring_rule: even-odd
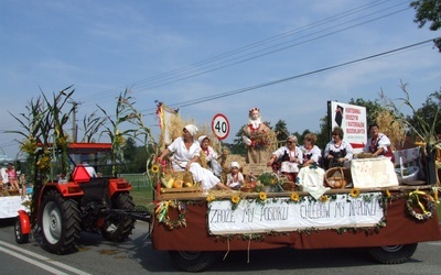
[[[158,157],[158,163],[162,163],[162,160],[166,155],[174,153],[171,157],[173,170],[190,170],[193,179],[196,183],[201,183],[204,189],[212,189],[214,187],[228,189],[211,170],[203,168],[198,164],[201,146],[194,140],[196,133],[197,128],[195,125],[186,125],[183,129],[182,136],[176,138]]]

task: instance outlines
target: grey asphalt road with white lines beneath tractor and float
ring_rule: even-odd
[[[0,220],[1,274],[165,274],[176,271],[163,251],[154,251],[147,237],[148,224],[137,222],[130,240],[110,243],[99,235],[83,233],[76,252],[47,253],[31,240],[17,244],[13,220]],[[440,274],[441,242],[420,243],[413,257],[404,264],[373,262],[362,249],[229,252],[205,272],[208,274]]]

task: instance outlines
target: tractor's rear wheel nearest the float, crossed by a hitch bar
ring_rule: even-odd
[[[117,194],[111,200],[112,209],[133,210],[135,204],[132,197],[127,193]],[[106,217],[101,230],[103,237],[111,242],[122,242],[135,228],[135,220],[125,213],[111,213]]]

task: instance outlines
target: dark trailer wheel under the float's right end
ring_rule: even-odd
[[[370,257],[381,264],[400,264],[409,261],[417,250],[418,243],[372,248]]]

